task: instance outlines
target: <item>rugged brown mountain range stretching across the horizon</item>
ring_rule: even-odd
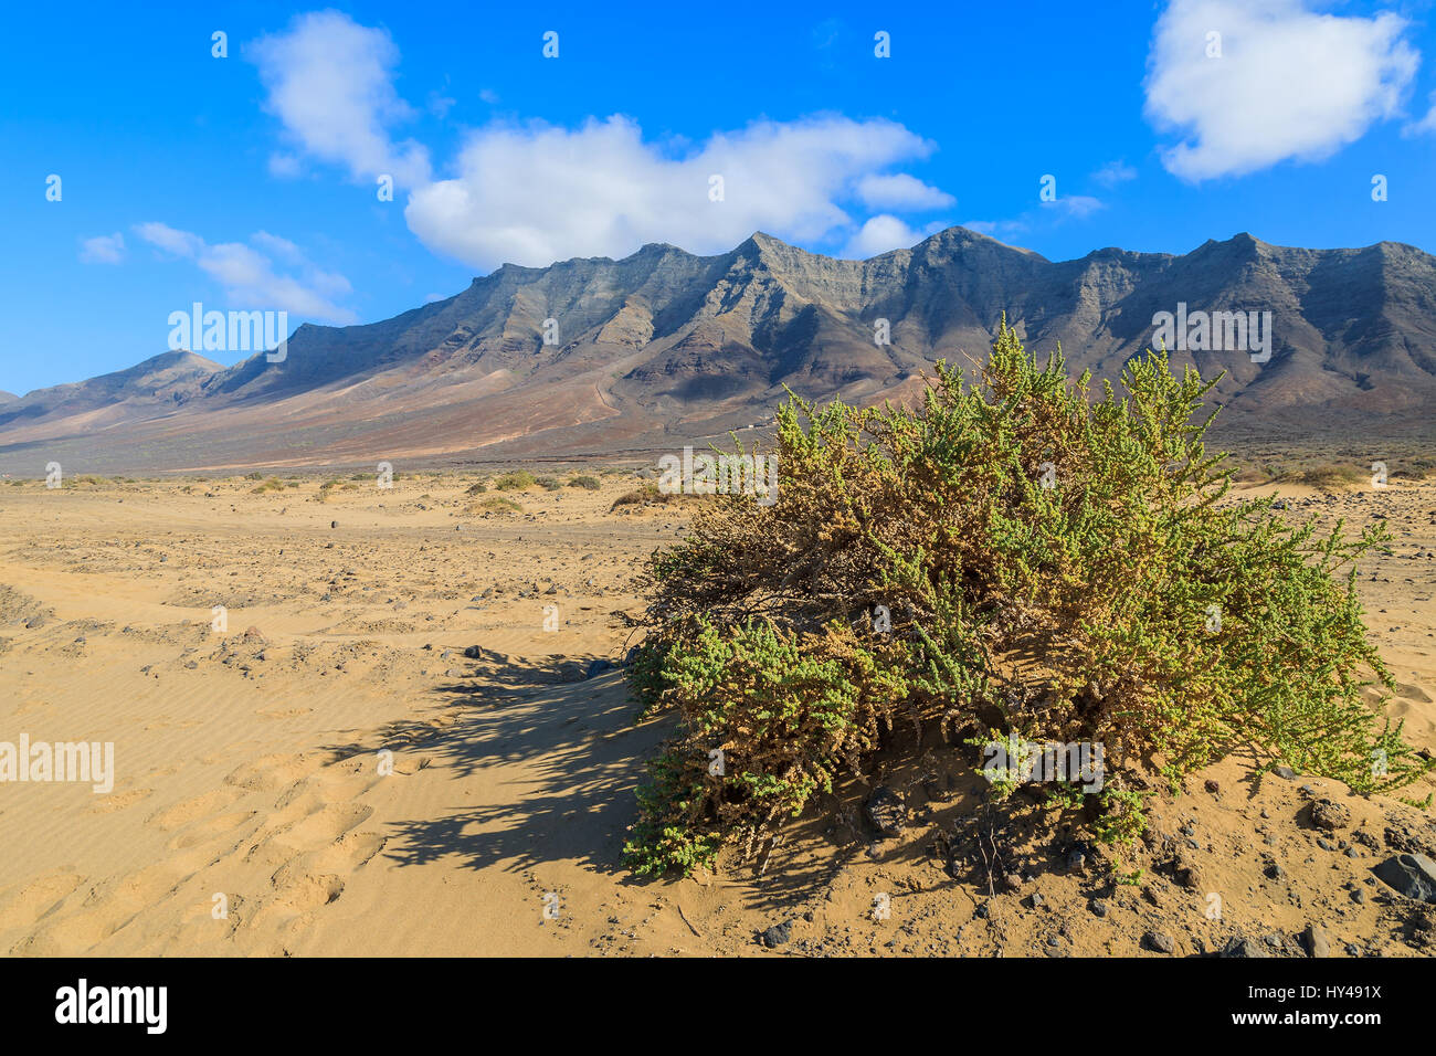
[[[1183,307],[1179,307],[1183,306]],[[1159,313],[1269,312],[1269,361],[1226,371],[1222,420],[1281,435],[1423,427],[1436,398],[1436,259],[1412,246],[1307,250],[1249,234],[1182,256],[1050,261],[962,227],[836,260],[758,233],[696,257],[504,264],[365,326],[300,326],[287,358],[188,352],[0,402],[0,467],[307,466],[616,454],[765,424],[784,395],[909,398],[933,359],[981,361],[1002,313],[1030,351],[1114,378]],[[556,343],[544,342],[554,320]],[[887,320],[890,343],[875,342]],[[1231,320],[1228,320],[1228,326]],[[1223,328],[1218,322],[1216,330]]]

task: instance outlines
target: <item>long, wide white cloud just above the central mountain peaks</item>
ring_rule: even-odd
[[[817,241],[853,228],[840,203],[864,177],[931,151],[890,121],[831,115],[755,122],[676,157],[622,116],[493,125],[470,136],[455,178],[415,188],[405,217],[475,267],[620,257],[646,241],[719,253],[755,230]],[[722,201],[709,200],[714,175]]]

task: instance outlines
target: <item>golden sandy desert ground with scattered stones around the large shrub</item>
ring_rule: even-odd
[[[942,744],[870,776],[908,803],[895,839],[850,782],[761,875],[725,859],[635,881],[620,848],[666,730],[635,726],[622,672],[589,667],[622,659],[630,576],[682,511],[610,511],[633,487],[615,474],[485,516],[474,478],[360,478],[327,500],[320,477],[264,494],[240,477],[0,483],[0,740],[113,741],[116,769],[108,795],[0,784],[0,951],[1165,955],[1245,938],[1298,955],[1315,924],[1333,954],[1436,953],[1432,908],[1371,876],[1397,851],[1436,855],[1429,810],[1239,759],[1157,800],[1136,885],[1020,809],[989,889],[978,779]],[[1285,493],[1294,517],[1390,519],[1394,552],[1361,590],[1391,713],[1436,746],[1436,486]],[[1348,819],[1314,826],[1321,799]]]

